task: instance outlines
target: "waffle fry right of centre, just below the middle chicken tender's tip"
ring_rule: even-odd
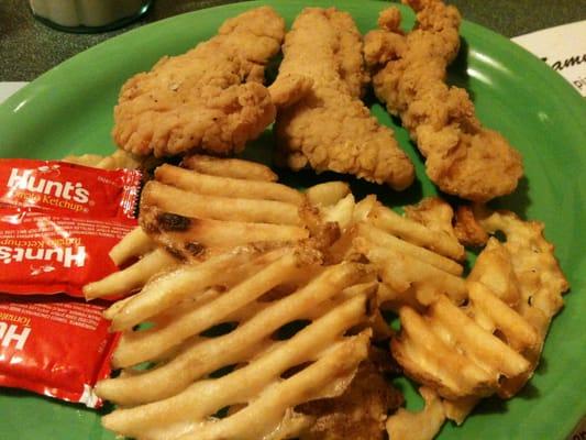
[[[405,211],[400,216],[374,197],[365,198],[355,205],[353,227],[335,252],[345,257],[357,253],[375,264],[384,284],[379,302],[385,308],[420,308],[441,295],[461,304],[466,299],[466,285],[455,260],[464,251],[453,233],[452,209],[432,198]]]

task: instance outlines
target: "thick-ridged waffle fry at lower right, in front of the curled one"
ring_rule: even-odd
[[[487,310],[495,330],[526,339],[523,349],[535,343],[534,331],[493,294],[472,284],[473,308]],[[498,306],[498,307],[496,307]],[[479,326],[465,309],[440,297],[427,316],[400,310],[401,334],[391,343],[392,353],[408,375],[445,398],[486,396],[498,391],[499,378],[516,377],[531,367],[529,361],[493,331]]]

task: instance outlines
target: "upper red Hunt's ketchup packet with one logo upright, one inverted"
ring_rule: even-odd
[[[110,250],[136,226],[141,174],[56,161],[0,161],[0,292],[82,296],[117,271]]]

